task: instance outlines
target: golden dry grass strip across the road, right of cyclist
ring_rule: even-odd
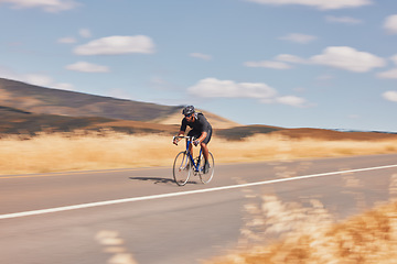
[[[254,135],[234,142],[214,140],[211,148],[219,162],[251,162],[311,157],[336,157],[396,153],[397,140],[323,141],[289,139],[281,135]]]

